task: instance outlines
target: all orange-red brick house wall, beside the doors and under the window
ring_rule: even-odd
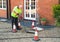
[[[23,5],[22,10],[24,10],[24,0],[10,0],[11,3],[11,11],[16,5]],[[55,4],[58,4],[58,0],[36,0],[37,4],[37,13],[40,15],[40,17],[45,17],[48,20],[48,24],[54,24],[54,18],[53,18],[53,11],[52,6]],[[24,14],[24,11],[23,13]],[[23,15],[22,15],[23,16]],[[7,17],[6,10],[0,9],[0,17]]]

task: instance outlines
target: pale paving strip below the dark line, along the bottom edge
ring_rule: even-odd
[[[33,41],[33,38],[6,39],[0,42],[60,42],[60,38],[39,38],[39,41]]]

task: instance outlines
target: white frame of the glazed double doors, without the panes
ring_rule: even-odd
[[[26,0],[24,0],[24,19],[28,19],[28,20],[36,20],[36,0],[35,0],[35,17],[32,18],[31,14],[32,14],[32,9],[31,9],[31,0],[29,0],[29,15],[30,17],[26,17]]]

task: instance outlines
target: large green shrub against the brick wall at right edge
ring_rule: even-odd
[[[60,5],[54,5],[53,6],[53,16],[57,20],[56,24],[60,25]]]

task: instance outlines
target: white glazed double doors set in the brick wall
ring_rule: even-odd
[[[24,0],[24,19],[36,20],[36,0]]]

